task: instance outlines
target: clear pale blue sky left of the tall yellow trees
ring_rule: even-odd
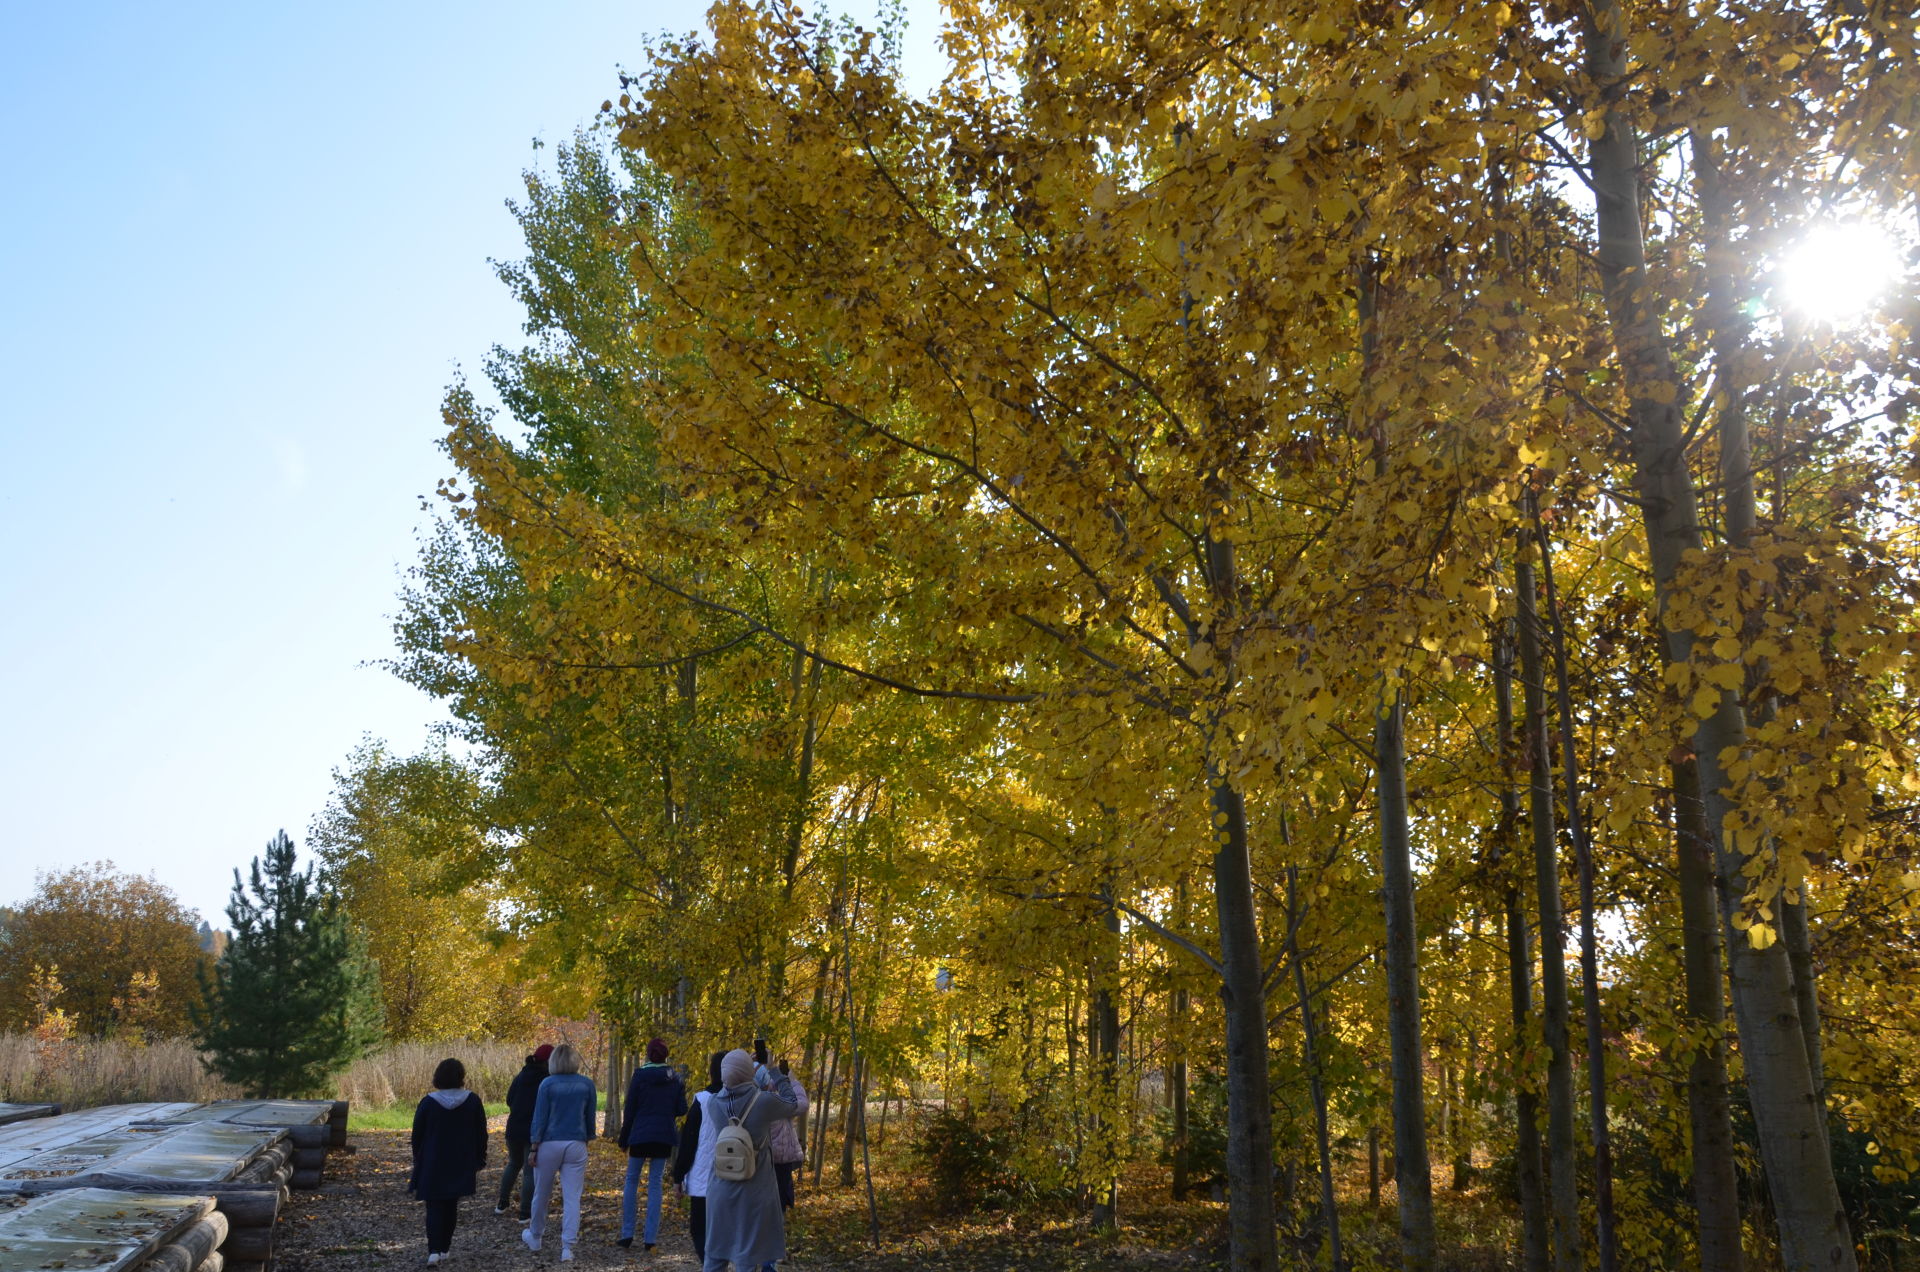
[[[440,396],[518,338],[503,202],[703,12],[0,6],[0,903],[111,859],[221,922],[363,734],[426,740],[365,663]]]

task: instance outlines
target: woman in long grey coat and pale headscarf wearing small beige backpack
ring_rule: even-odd
[[[708,1113],[720,1126],[735,1118],[753,1137],[751,1180],[707,1180],[705,1272],[760,1272],[787,1257],[787,1218],[780,1207],[780,1176],[768,1132],[776,1122],[797,1116],[793,1078],[755,1064],[745,1051],[728,1051],[720,1061],[720,1093],[708,1097]],[[716,1132],[718,1134],[718,1132]]]

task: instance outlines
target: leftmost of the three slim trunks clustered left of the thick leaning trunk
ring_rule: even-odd
[[[1501,623],[1494,636],[1494,709],[1500,728],[1500,851],[1505,872],[1513,874],[1505,861],[1507,851],[1517,844],[1521,824],[1521,792],[1517,786],[1519,744],[1513,736],[1513,621]],[[1513,882],[1505,886],[1507,920],[1507,999],[1513,1018],[1515,1055],[1524,1053],[1534,1036],[1534,953],[1526,934],[1526,907],[1521,901],[1521,888]],[[1526,1074],[1523,1074],[1524,1078]],[[1548,1272],[1548,1201],[1546,1178],[1540,1164],[1540,1097],[1521,1082],[1513,1093],[1513,1155],[1515,1174],[1521,1189],[1521,1266],[1524,1272]]]

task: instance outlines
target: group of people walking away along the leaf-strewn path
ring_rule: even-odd
[[[787,1257],[785,1211],[806,1153],[793,1118],[806,1113],[806,1091],[785,1063],[770,1064],[745,1049],[716,1051],[707,1063],[707,1086],[687,1097],[684,1078],[666,1063],[666,1043],[647,1043],[647,1061],[626,1086],[618,1143],[626,1149],[620,1237],[643,1249],[660,1235],[666,1176],[687,1199],[687,1232],[703,1272],[772,1272]],[[599,1091],[580,1072],[580,1053],[541,1045],[507,1088],[507,1164],[499,1178],[495,1214],[518,1214],[520,1241],[530,1251],[545,1243],[553,1187],[561,1189],[561,1262],[580,1241],[580,1197],[586,1189],[588,1143]],[[438,1264],[453,1245],[461,1197],[472,1197],[486,1168],[486,1109],[467,1089],[467,1068],[442,1061],[434,1089],[413,1114],[413,1174],[407,1189],[426,1209],[426,1262]],[[645,1222],[639,1182],[647,1180]],[[528,1189],[532,1178],[532,1189]],[[515,1184],[518,1182],[518,1199]],[[516,1201],[516,1205],[515,1205]]]

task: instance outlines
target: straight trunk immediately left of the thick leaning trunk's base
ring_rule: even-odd
[[[1686,963],[1686,1105],[1693,1143],[1693,1209],[1701,1272],[1741,1272],[1740,1180],[1734,1116],[1726,1091],[1726,990],[1720,982],[1720,903],[1713,884],[1713,838],[1699,801],[1693,761],[1672,767],[1674,847],[1680,876],[1680,949]]]

